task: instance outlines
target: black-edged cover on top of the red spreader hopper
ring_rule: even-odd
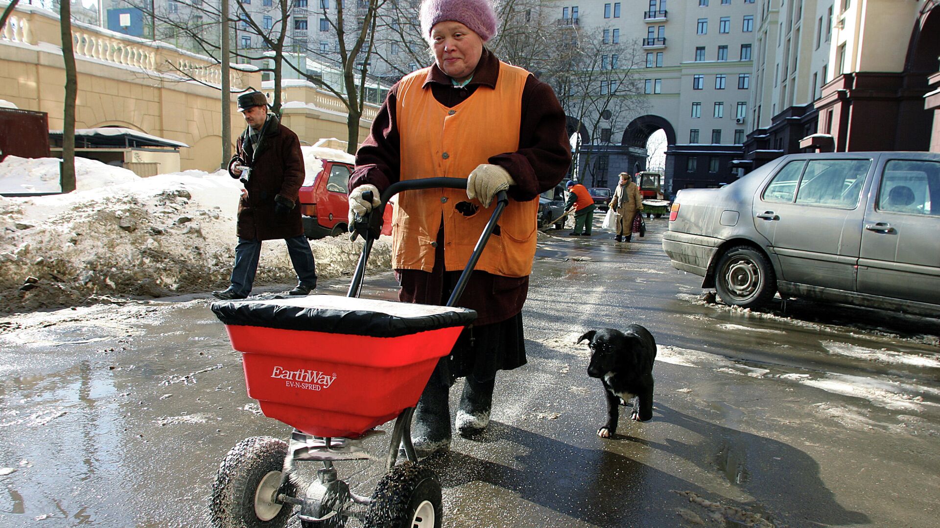
[[[477,312],[467,308],[337,295],[220,301],[212,303],[211,309],[225,324],[371,337],[398,337],[466,326],[477,318]]]

